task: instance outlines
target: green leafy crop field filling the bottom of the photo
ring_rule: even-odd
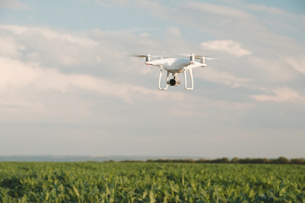
[[[0,202],[305,203],[305,166],[2,162]]]

